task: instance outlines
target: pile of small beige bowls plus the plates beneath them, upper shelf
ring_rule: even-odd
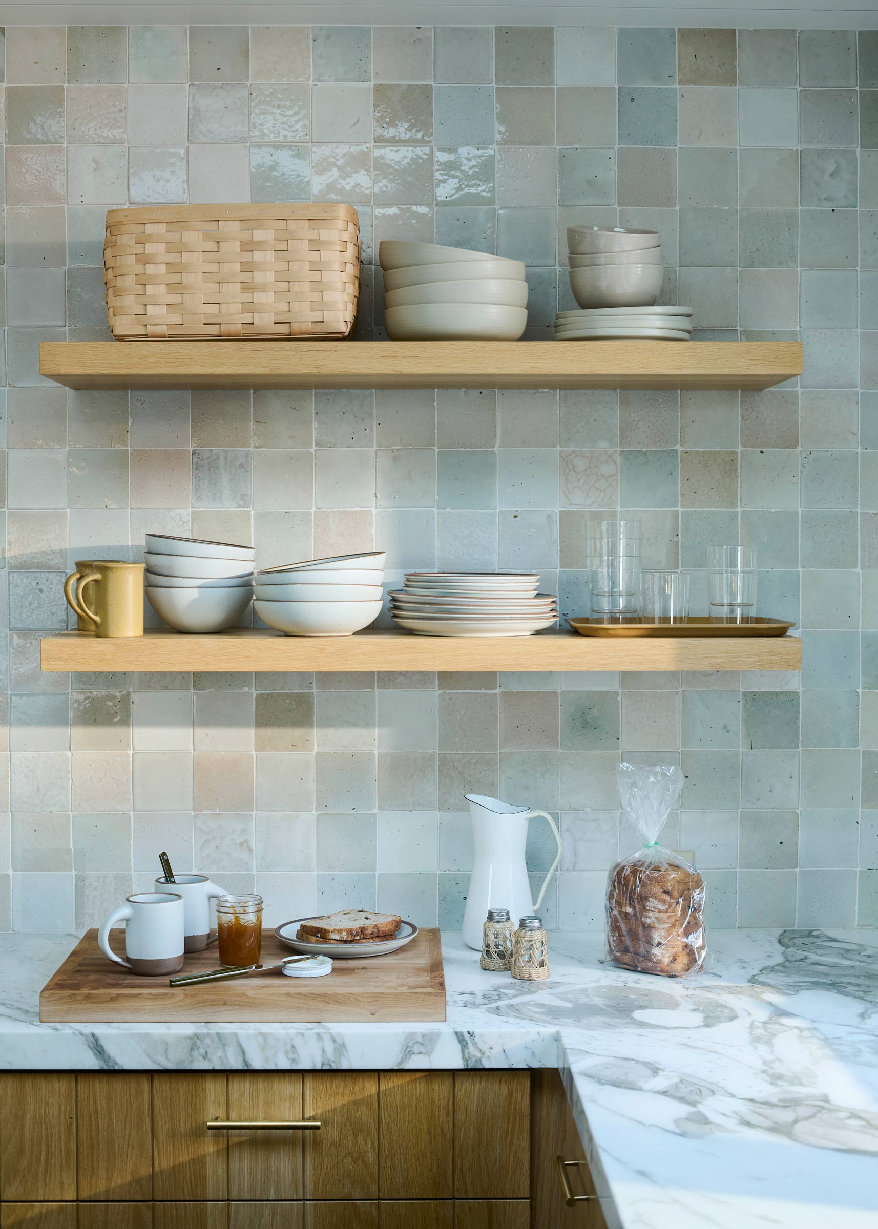
[[[689,307],[655,307],[664,264],[658,231],[568,226],[571,290],[582,311],[558,312],[556,342],[652,338],[687,342]]]

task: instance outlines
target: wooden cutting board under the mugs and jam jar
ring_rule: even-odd
[[[111,932],[124,956],[124,930]],[[264,930],[262,962],[274,965],[293,950]],[[186,957],[183,972],[216,968],[216,945]],[[336,960],[326,977],[237,977],[188,988],[166,977],[138,977],[113,965],[89,930],[39,993],[39,1019],[52,1023],[214,1024],[444,1020],[445,975],[438,930],[421,930],[389,956]]]

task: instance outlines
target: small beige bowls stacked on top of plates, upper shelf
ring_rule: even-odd
[[[658,231],[568,226],[571,290],[580,307],[651,307],[662,293]]]

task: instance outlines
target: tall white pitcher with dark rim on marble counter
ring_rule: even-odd
[[[464,912],[464,943],[481,951],[482,927],[489,908],[509,909],[513,925],[518,925],[520,917],[540,908],[548,881],[561,862],[561,833],[552,816],[545,811],[510,806],[483,794],[466,794],[465,798],[470,804],[475,858]],[[528,820],[537,816],[546,820],[555,833],[558,852],[534,902],[524,849]]]

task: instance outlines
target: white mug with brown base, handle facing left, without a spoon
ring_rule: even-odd
[[[125,923],[125,956],[109,946],[109,932]],[[135,892],[105,918],[97,932],[103,955],[143,977],[167,977],[183,967],[183,897],[178,892]]]

